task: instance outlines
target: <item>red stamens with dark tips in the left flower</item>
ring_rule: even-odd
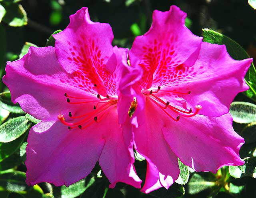
[[[96,102],[96,104],[94,104],[93,106],[94,110],[92,112],[88,112],[86,114],[76,115],[76,116],[73,116],[72,112],[69,112],[68,116],[76,120],[76,122],[66,122],[63,114],[58,115],[58,119],[60,120],[60,122],[68,126],[68,129],[73,129],[73,128],[85,129],[95,122],[100,122],[106,116],[106,114],[108,114],[110,109],[116,107],[116,103],[117,103],[116,98],[110,98],[108,95],[106,96],[106,98],[103,98],[102,96],[100,96],[100,94],[98,94],[95,100],[91,98],[89,99],[89,98],[83,98],[83,97],[77,97],[77,96],[70,96],[67,93],[65,93],[64,96],[67,97],[67,102],[69,104],[85,104],[85,103]],[[71,101],[70,98],[74,99],[74,102]]]

